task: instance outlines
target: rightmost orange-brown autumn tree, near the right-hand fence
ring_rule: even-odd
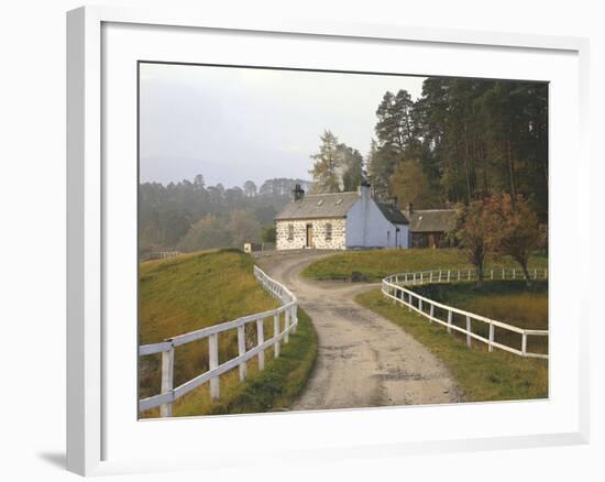
[[[508,255],[519,263],[529,286],[529,254],[546,244],[546,228],[521,195],[514,202],[508,194],[494,195],[485,200],[485,210],[488,224],[494,228],[488,232],[488,243],[496,254]]]

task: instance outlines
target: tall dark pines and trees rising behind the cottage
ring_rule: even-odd
[[[417,100],[385,92],[365,158],[329,130],[311,155],[315,190],[352,190],[362,176],[382,200],[419,208],[521,195],[548,218],[548,85],[428,78]]]

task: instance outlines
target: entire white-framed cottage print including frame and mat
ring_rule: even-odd
[[[584,40],[82,8],[67,42],[69,470],[586,440]]]

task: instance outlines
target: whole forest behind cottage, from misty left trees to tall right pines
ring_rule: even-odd
[[[354,190],[363,178],[376,198],[402,209],[506,194],[525,199],[539,222],[548,222],[547,84],[427,78],[416,100],[403,89],[385,92],[375,117],[375,135],[360,140],[370,144],[365,156],[326,129],[310,153],[310,180],[224,187],[207,186],[198,174],[166,186],[140,184],[140,254],[271,241],[273,218],[295,184],[334,193]]]

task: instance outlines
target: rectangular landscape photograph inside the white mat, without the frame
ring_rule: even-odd
[[[140,419],[548,399],[549,83],[138,83]]]

